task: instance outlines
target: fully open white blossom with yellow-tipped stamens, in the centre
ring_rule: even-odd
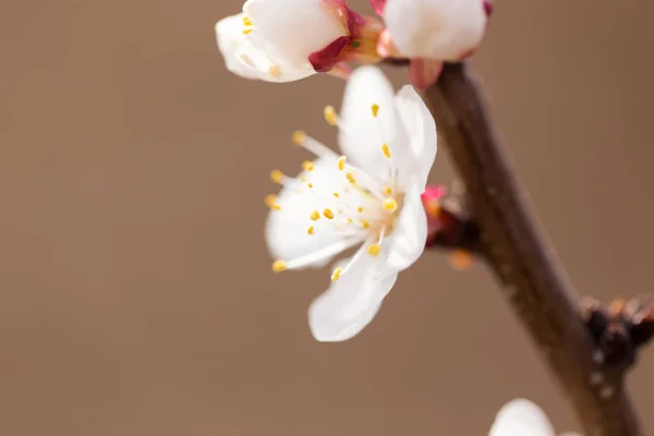
[[[338,263],[331,284],[308,311],[319,341],[342,341],[375,316],[398,272],[422,254],[427,222],[421,193],[436,157],[436,125],[411,86],[397,95],[380,70],[362,66],[346,87],[338,125],[338,155],[303,132],[293,141],[315,154],[296,178],[272,171],[282,184],[271,207],[266,242],[272,269],[320,267],[360,245]]]

